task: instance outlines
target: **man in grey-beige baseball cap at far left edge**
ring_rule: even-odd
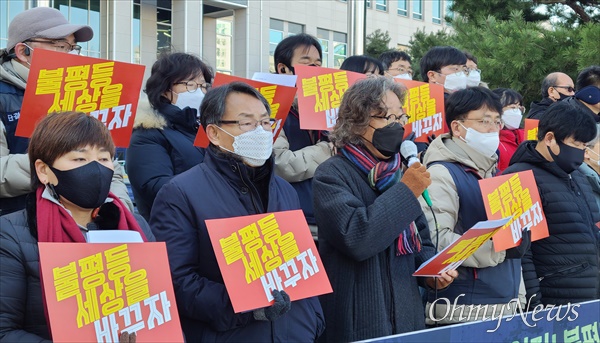
[[[36,7],[18,14],[8,27],[8,43],[0,51],[0,214],[25,208],[30,186],[29,140],[15,136],[29,67],[36,49],[79,54],[77,42],[92,39],[92,28],[69,24],[54,8]],[[122,167],[113,163],[111,191],[132,210]]]

